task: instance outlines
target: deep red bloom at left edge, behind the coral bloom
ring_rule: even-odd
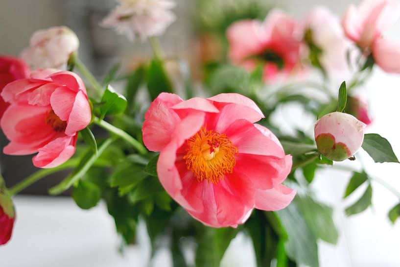
[[[29,76],[29,73],[29,67],[23,60],[17,57],[0,55],[0,93],[7,83],[26,78]],[[8,105],[0,97],[0,118],[3,116]]]

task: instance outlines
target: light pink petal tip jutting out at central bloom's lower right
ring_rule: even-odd
[[[256,190],[255,207],[264,211],[276,211],[285,208],[293,200],[296,190],[278,184],[273,189]]]

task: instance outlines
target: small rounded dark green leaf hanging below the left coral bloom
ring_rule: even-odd
[[[101,198],[101,189],[98,185],[85,180],[79,180],[72,191],[72,198],[79,208],[88,210],[97,205]]]

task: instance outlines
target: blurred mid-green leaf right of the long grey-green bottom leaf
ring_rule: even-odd
[[[332,208],[308,195],[297,194],[295,202],[314,236],[328,243],[336,244],[339,233],[332,219]]]

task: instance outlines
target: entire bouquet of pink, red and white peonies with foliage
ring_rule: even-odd
[[[192,72],[184,59],[165,56],[157,39],[175,20],[171,0],[118,0],[101,26],[148,40],[154,57],[123,75],[117,65],[103,82],[79,60],[79,40],[65,26],[35,32],[20,58],[2,55],[3,153],[35,154],[42,169],[9,188],[0,176],[0,244],[16,219],[12,197],[70,170],[49,194],[72,188],[82,209],[104,201],[127,245],[144,222],[153,251],[166,240],[176,267],[219,266],[239,232],[253,240],[259,267],[318,267],[317,241],[334,244],[339,234],[332,208],[310,187],[316,171],[351,160],[345,197],[366,190],[346,208],[350,216],[371,205],[375,179],[358,169],[360,147],[375,162],[399,163],[388,140],[364,133],[372,120],[360,85],[375,65],[400,73],[400,41],[382,34],[400,4],[364,0],[340,24],[324,7],[298,21],[262,5],[255,12],[252,2],[226,1],[218,11],[215,1],[196,3],[202,58]],[[126,83],[124,92],[110,85],[116,81]],[[206,97],[194,96],[194,83]],[[313,135],[297,128],[287,135],[274,123],[288,102],[312,114]],[[108,134],[97,136],[98,128]],[[400,204],[389,213],[393,222],[399,216]]]

